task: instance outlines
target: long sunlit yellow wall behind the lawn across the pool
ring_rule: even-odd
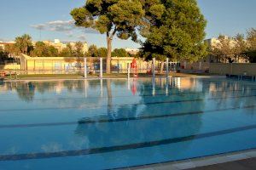
[[[125,61],[126,62],[126,61]],[[146,62],[146,61],[144,61]],[[168,64],[167,64],[168,63]],[[153,59],[137,65],[137,73],[148,73],[155,76],[155,74],[160,73],[161,66],[163,66],[162,73],[169,73],[170,71],[176,72],[180,65],[179,63],[169,62],[167,59],[166,62],[157,61]],[[164,65],[162,65],[164,64]],[[86,66],[85,66],[86,65]],[[115,63],[111,67],[111,72],[115,74],[127,74],[129,73],[130,62],[125,64],[120,64],[119,62]],[[82,58],[79,60],[74,60],[72,62],[60,62],[58,60],[51,60],[46,62],[44,59],[26,61],[26,65],[10,67],[11,69],[2,69],[0,67],[0,76],[8,76],[11,78],[17,77],[17,75],[48,75],[48,74],[66,74],[66,75],[80,75],[87,77],[87,75],[94,75],[98,77],[103,77],[103,73],[106,73],[106,61],[102,58],[98,59],[86,59]],[[19,68],[20,67],[20,68]],[[23,67],[23,68],[21,68]],[[135,70],[130,70],[131,74]],[[4,74],[3,74],[4,73]]]

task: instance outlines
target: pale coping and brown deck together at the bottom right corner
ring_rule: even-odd
[[[183,161],[169,161],[125,170],[250,170],[256,169],[256,149],[206,156]]]

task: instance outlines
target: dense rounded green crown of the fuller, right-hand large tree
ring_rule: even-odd
[[[207,21],[195,0],[166,0],[148,11],[157,13],[148,14],[151,26],[142,48],[146,59],[192,62],[207,54]]]

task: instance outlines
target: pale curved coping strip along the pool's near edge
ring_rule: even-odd
[[[231,161],[241,161],[256,157],[256,149],[233,151],[212,156],[201,156],[181,161],[164,161],[142,166],[117,168],[120,170],[183,170],[196,167],[207,167]]]

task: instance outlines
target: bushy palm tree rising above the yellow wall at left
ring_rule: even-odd
[[[20,53],[29,54],[32,51],[32,37],[28,34],[24,34],[21,37],[15,38],[15,47],[18,48]]]

